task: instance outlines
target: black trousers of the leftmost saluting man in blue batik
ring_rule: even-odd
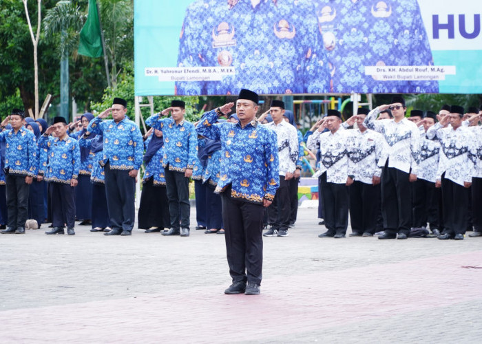
[[[6,199],[8,209],[7,226],[25,227],[28,216],[29,185],[25,175],[5,175]]]

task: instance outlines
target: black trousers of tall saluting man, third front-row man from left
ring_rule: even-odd
[[[108,162],[104,171],[105,194],[112,230],[131,232],[136,217],[136,179],[130,177],[127,170],[111,169]]]

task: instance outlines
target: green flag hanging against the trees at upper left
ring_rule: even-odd
[[[81,30],[78,54],[89,57],[102,56],[101,24],[98,20],[96,0],[89,0],[89,14]]]

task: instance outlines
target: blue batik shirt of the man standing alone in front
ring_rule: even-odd
[[[279,161],[276,133],[251,122],[241,127],[240,122],[216,123],[215,110],[204,114],[196,128],[202,136],[221,141],[221,173],[215,192],[224,191],[231,184],[231,197],[262,204],[273,201],[278,188]]]

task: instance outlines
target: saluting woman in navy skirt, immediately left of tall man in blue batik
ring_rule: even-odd
[[[90,174],[91,203],[91,232],[109,232],[111,230],[107,197],[105,196],[104,168],[98,162],[103,160],[104,139],[101,134],[94,138],[86,139],[81,136],[78,145],[82,149],[89,149],[92,160],[92,173]],[[77,186],[78,187],[78,186]]]

